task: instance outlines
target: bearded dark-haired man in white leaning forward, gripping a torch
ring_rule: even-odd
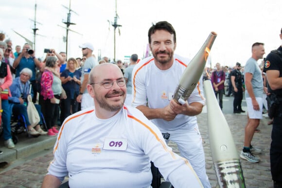
[[[176,32],[167,21],[153,25],[148,37],[153,57],[143,59],[133,69],[132,105],[159,127],[167,141],[176,142],[180,154],[189,160],[203,186],[210,188],[195,117],[205,105],[202,78],[185,104],[176,103],[173,93],[190,60],[174,54]]]

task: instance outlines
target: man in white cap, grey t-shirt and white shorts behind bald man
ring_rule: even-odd
[[[84,110],[87,107],[93,106],[94,102],[92,97],[87,92],[87,82],[88,82],[88,75],[90,70],[98,65],[97,60],[92,56],[92,52],[94,51],[94,47],[91,43],[84,43],[79,46],[82,50],[82,55],[86,57],[86,60],[82,67],[82,75],[81,75],[81,87],[80,93],[76,97],[76,101],[81,103],[81,109]]]

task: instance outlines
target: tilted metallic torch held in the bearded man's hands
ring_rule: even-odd
[[[173,98],[177,103],[184,104],[196,87],[206,66],[216,35],[215,32],[211,32],[206,42],[182,73],[179,84],[173,95]]]

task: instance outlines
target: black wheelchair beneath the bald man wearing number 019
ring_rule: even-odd
[[[151,186],[152,188],[174,188],[170,182],[162,181],[162,175],[159,172],[159,169],[155,167],[154,163],[151,161],[151,171],[153,175]],[[59,188],[70,188],[69,182],[65,182],[60,185]]]

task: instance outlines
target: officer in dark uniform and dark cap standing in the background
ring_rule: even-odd
[[[230,78],[231,78],[231,84],[233,88],[233,95],[234,95],[234,101],[233,101],[233,113],[234,114],[240,114],[241,112],[245,112],[242,110],[242,100],[243,100],[243,76],[240,72],[241,64],[236,63],[236,67],[234,70],[230,72]]]

